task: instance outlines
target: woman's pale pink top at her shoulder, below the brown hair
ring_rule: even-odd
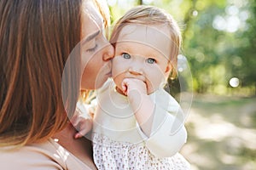
[[[86,170],[84,162],[73,156],[54,139],[19,149],[0,148],[0,169],[8,170]]]

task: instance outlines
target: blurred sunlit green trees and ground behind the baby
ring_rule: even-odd
[[[187,65],[169,85],[177,99],[189,94],[181,152],[192,170],[255,170],[256,0],[108,0],[112,23],[138,4],[166,9],[182,29]]]

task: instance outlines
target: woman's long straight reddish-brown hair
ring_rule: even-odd
[[[81,38],[81,3],[0,1],[0,145],[44,141],[67,124],[61,76]],[[72,77],[62,89],[70,112],[79,96],[79,59],[67,65]]]

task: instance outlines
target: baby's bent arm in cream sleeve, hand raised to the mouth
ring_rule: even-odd
[[[187,131],[183,120],[177,115],[183,115],[180,106],[175,99],[165,98],[166,108],[154,104],[154,101],[147,94],[147,87],[144,82],[137,79],[125,79],[123,90],[135,112],[137,122],[144,134],[148,136],[146,146],[154,156],[174,156],[187,140]],[[165,95],[166,97],[166,95]],[[172,103],[173,111],[169,111],[169,101]]]

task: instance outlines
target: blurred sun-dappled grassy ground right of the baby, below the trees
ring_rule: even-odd
[[[254,170],[256,98],[195,95],[181,153],[192,170]]]

